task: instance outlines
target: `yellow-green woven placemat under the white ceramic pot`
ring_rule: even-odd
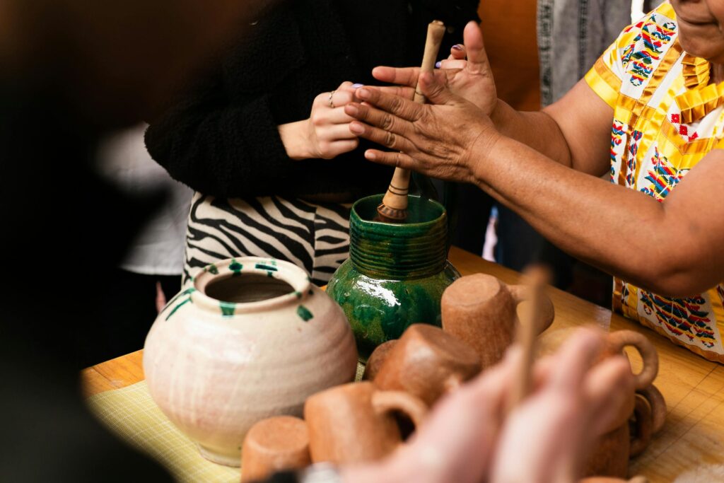
[[[358,364],[355,379],[364,366]],[[156,458],[178,482],[237,483],[238,468],[211,463],[196,445],[161,413],[151,399],[146,381],[122,389],[101,392],[86,400],[90,411],[130,445]]]

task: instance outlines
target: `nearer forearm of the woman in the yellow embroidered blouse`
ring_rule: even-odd
[[[680,220],[664,203],[563,167],[514,140],[474,149],[484,158],[474,168],[479,187],[578,259],[664,295],[714,285],[692,269],[680,249],[692,245],[691,234],[673,229]]]

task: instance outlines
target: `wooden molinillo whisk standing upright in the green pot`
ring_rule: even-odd
[[[420,73],[432,72],[437,61],[437,54],[442,43],[442,36],[445,35],[445,24],[439,20],[430,22],[427,26],[427,40],[425,41],[425,54],[422,57]],[[415,102],[424,104],[425,96],[415,87]],[[392,175],[390,188],[387,188],[382,204],[377,211],[384,221],[403,222],[407,218],[408,193],[410,191],[410,171],[408,169],[395,168]]]

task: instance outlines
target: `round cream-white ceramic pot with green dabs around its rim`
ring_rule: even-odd
[[[148,390],[201,454],[239,466],[251,426],[302,416],[315,392],[350,382],[357,350],[342,309],[285,261],[207,266],[146,337]]]

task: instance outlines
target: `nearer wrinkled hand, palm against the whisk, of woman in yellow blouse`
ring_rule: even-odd
[[[379,88],[358,89],[356,96],[365,102],[345,107],[345,113],[362,121],[350,124],[352,133],[403,151],[370,149],[366,158],[443,180],[473,182],[476,164],[500,134],[481,109],[452,94],[431,73],[420,76],[419,88],[437,105],[416,104]]]

